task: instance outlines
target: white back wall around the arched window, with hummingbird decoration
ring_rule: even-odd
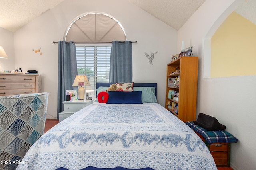
[[[166,64],[177,49],[177,31],[141,10],[127,0],[64,0],[15,32],[15,66],[22,70],[38,70],[42,75],[42,92],[49,93],[48,116],[56,117],[58,44],[69,23],[80,14],[106,12],[124,27],[133,44],[133,81],[158,83],[158,103],[164,106]],[[34,53],[33,50],[42,52]],[[144,55],[158,51],[153,65]]]

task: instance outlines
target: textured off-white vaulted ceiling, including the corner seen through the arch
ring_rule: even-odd
[[[15,32],[63,0],[0,0],[0,27]],[[205,0],[128,0],[178,30]],[[245,0],[236,10],[256,24],[256,0]]]

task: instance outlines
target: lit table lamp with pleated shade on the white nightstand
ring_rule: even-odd
[[[72,86],[78,86],[79,87],[79,89],[78,89],[79,100],[84,100],[85,89],[84,89],[83,86],[90,86],[90,83],[89,83],[87,77],[84,76],[84,75],[76,76]]]

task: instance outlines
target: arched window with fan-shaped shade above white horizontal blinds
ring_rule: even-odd
[[[126,41],[122,25],[109,14],[88,12],[70,23],[63,39],[76,43],[78,75],[87,76],[86,93],[95,96],[96,82],[109,82],[111,42]]]

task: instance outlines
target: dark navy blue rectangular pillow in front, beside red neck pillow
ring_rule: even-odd
[[[110,91],[108,92],[108,102],[107,104],[142,104],[141,102],[142,91],[136,92],[120,92],[120,91]]]

